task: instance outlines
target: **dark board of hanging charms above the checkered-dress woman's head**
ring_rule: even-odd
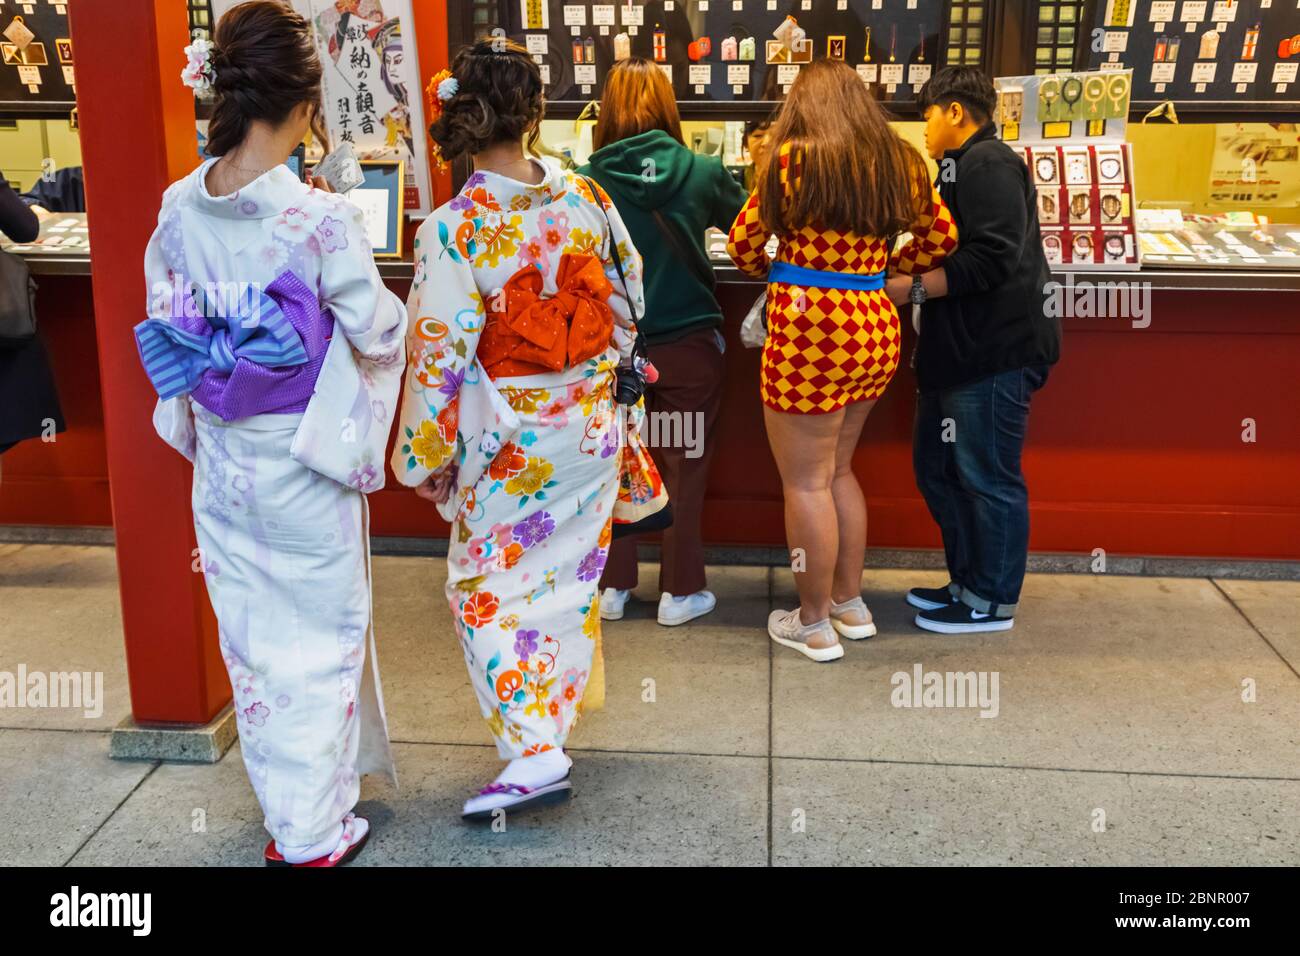
[[[528,46],[551,116],[599,99],[621,51],[660,62],[686,116],[766,114],[802,62],[827,56],[910,113],[937,65],[983,65],[987,9],[987,0],[499,0],[452,5],[450,35],[469,43],[499,30]],[[793,61],[772,35],[788,16],[807,38]],[[753,59],[742,59],[746,44]]]

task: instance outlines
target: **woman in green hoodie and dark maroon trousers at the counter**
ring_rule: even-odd
[[[647,440],[673,509],[658,619],[684,624],[718,604],[706,589],[699,533],[724,349],[705,230],[731,229],[748,195],[722,160],[686,148],[672,85],[644,57],[615,64],[606,77],[593,146],[578,173],[610,194],[645,261],[641,329],[659,371],[646,389]],[[619,538],[601,578],[601,617],[621,618],[636,584],[636,538]]]

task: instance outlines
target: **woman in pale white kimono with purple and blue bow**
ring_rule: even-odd
[[[359,774],[391,775],[364,492],[384,484],[406,310],[360,211],[285,165],[313,122],[308,25],[222,17],[185,81],[212,85],[208,160],[162,196],[136,326],[155,425],[194,462],[194,519],[268,865],[361,848]]]

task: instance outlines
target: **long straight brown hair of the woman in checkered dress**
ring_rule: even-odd
[[[858,235],[907,232],[930,200],[926,161],[889,126],[866,83],[840,60],[800,70],[768,133],[772,161],[758,183],[763,226],[788,235],[810,225]],[[781,186],[777,150],[801,161],[800,187]]]

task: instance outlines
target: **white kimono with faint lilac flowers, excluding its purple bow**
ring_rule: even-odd
[[[191,282],[221,295],[289,271],[334,320],[306,411],[224,421],[185,394],[153,415],[194,462],[200,561],[266,829],[306,847],[339,831],[359,774],[393,775],[363,492],[384,485],[406,308],[343,196],[285,166],[213,196],[209,165],[164,194],[144,256],[151,317],[168,319]]]

